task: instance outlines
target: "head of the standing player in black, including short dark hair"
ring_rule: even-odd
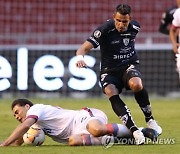
[[[127,29],[131,20],[131,7],[127,4],[119,4],[116,6],[113,14],[114,24],[119,32],[123,32]]]

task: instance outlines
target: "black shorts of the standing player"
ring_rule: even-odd
[[[100,73],[100,83],[104,92],[104,89],[107,85],[113,84],[119,90],[119,93],[122,92],[123,88],[130,90],[128,81],[132,77],[141,78],[141,73],[138,70],[137,65],[129,65],[121,69],[113,69],[108,71],[102,71]]]

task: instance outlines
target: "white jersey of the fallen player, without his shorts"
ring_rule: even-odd
[[[67,139],[73,128],[73,119],[79,111],[66,110],[51,105],[35,104],[27,112],[26,118],[36,119],[46,135]]]

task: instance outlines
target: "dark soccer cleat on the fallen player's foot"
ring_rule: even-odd
[[[158,133],[156,130],[152,128],[142,128],[141,132],[144,134],[145,137],[151,139],[152,142],[157,141]]]

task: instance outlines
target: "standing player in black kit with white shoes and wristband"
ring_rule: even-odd
[[[83,56],[90,49],[100,46],[102,89],[111,102],[113,111],[131,130],[136,144],[139,145],[145,142],[145,138],[133,121],[130,110],[119,96],[123,88],[134,92],[148,127],[156,130],[159,135],[162,129],[153,118],[148,93],[143,87],[141,73],[138,70],[139,59],[134,45],[140,25],[137,21],[131,20],[130,13],[129,5],[118,5],[113,19],[99,26],[77,50],[76,66],[86,67]]]

